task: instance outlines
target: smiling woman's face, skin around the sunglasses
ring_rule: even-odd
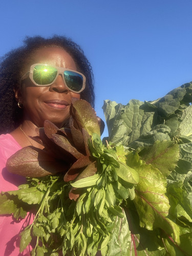
[[[69,53],[57,47],[41,48],[35,51],[32,60],[34,60],[33,63],[50,64],[77,71],[76,64]],[[27,78],[23,82],[22,90],[24,118],[38,127],[42,127],[46,119],[62,127],[70,117],[72,97],[80,98],[80,94],[69,91],[60,75],[48,87],[37,87],[30,78]]]

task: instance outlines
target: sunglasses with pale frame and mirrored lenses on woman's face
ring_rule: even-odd
[[[29,76],[35,86],[50,86],[55,82],[58,75],[62,76],[66,87],[74,93],[80,93],[86,87],[86,77],[83,74],[41,63],[33,64],[30,71],[23,75],[21,79],[24,80]]]

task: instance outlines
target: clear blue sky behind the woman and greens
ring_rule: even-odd
[[[26,35],[71,37],[91,62],[104,119],[105,99],[155,100],[192,80],[191,13],[191,0],[1,1],[0,56]]]

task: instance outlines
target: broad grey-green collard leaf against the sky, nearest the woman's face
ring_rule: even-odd
[[[151,130],[154,110],[145,112],[140,108],[143,104],[144,102],[139,100],[131,100],[126,106],[115,101],[104,101],[103,111],[111,142],[129,145],[142,133]]]

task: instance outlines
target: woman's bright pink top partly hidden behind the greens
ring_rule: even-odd
[[[7,159],[22,148],[10,134],[0,135],[0,191],[16,190],[17,186],[25,183],[25,178],[11,174],[6,169]],[[23,226],[28,225],[30,215],[24,220],[14,220],[11,216],[0,216],[0,255],[21,256],[30,255],[27,247],[24,252],[19,253],[19,232]]]

